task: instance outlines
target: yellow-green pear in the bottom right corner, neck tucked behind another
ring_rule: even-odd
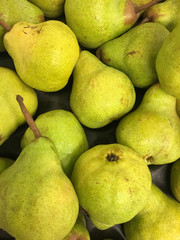
[[[179,240],[180,204],[152,184],[148,202],[140,213],[124,224],[127,240]]]

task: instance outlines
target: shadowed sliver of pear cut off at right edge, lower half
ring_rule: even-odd
[[[170,186],[174,197],[180,202],[180,159],[171,166]]]

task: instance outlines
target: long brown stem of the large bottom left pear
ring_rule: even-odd
[[[16,100],[19,103],[19,106],[21,108],[21,111],[26,119],[26,122],[28,123],[29,127],[31,128],[31,130],[34,133],[34,137],[35,138],[39,138],[42,137],[38,127],[36,126],[31,114],[29,113],[29,111],[27,110],[26,106],[23,103],[23,98],[20,95],[16,96]]]

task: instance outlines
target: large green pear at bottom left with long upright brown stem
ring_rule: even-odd
[[[18,240],[61,240],[78,217],[79,203],[53,142],[43,137],[17,96],[35,139],[0,175],[0,228]]]

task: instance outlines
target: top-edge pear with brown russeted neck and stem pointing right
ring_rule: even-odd
[[[137,6],[131,0],[66,0],[64,12],[66,23],[79,43],[95,49],[129,30],[141,11],[160,1],[149,0]]]

